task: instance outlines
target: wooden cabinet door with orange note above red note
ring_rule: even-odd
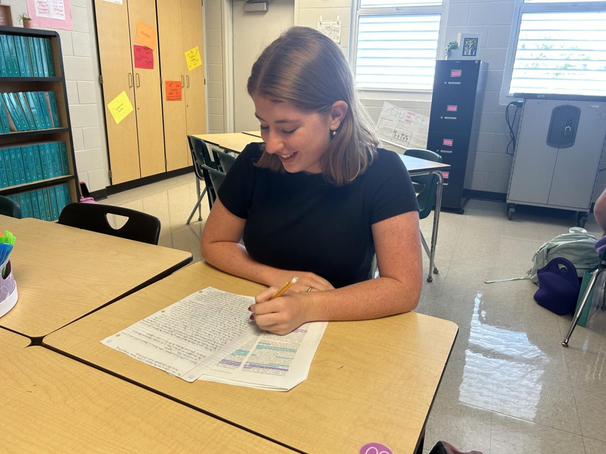
[[[153,69],[135,67],[135,48],[133,46],[142,45],[136,41],[139,20],[158,30],[155,0],[128,0],[128,19],[130,22],[130,55],[133,59],[135,77],[139,162],[141,163],[141,177],[147,177],[166,171],[157,34],[156,48],[153,50]]]

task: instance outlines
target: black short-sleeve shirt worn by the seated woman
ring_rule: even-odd
[[[378,149],[365,173],[344,186],[321,174],[255,167],[250,143],[231,166],[219,199],[245,219],[244,244],[257,262],[321,275],[335,288],[366,280],[375,244],[371,225],[417,211],[413,185],[393,151]]]

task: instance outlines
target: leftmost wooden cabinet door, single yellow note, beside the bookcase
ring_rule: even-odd
[[[112,168],[112,185],[141,177],[137,120],[128,114],[116,125],[107,104],[125,91],[135,107],[133,68],[130,59],[130,32],[126,2],[122,5],[95,0],[99,59],[103,77],[107,145]]]

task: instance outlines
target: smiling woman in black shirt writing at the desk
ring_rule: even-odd
[[[255,62],[247,90],[264,145],[248,145],[225,177],[202,233],[204,259],[270,286],[250,317],[276,334],[415,309],[415,191],[398,154],[377,148],[341,49],[312,28],[290,28]],[[369,279],[375,253],[381,277]]]

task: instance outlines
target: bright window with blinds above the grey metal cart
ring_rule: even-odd
[[[606,1],[524,0],[517,25],[503,96],[606,96]]]

